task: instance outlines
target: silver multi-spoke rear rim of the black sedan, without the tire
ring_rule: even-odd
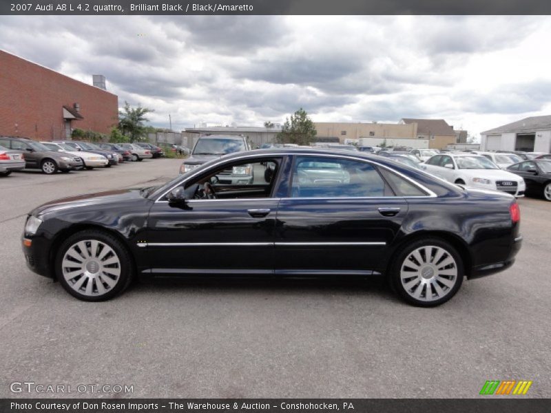
[[[422,246],[408,254],[400,268],[402,287],[416,300],[446,297],[457,284],[457,262],[441,246]]]

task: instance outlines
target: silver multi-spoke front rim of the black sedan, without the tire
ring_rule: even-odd
[[[98,297],[118,284],[121,260],[104,242],[83,240],[67,248],[61,271],[67,284],[77,293]]]

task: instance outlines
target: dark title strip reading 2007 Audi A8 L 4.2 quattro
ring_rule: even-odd
[[[548,0],[3,0],[8,15],[551,14]]]

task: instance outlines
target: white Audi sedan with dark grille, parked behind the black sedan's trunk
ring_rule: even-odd
[[[523,178],[503,171],[484,156],[472,153],[439,153],[422,167],[439,178],[471,188],[495,189],[516,197],[524,196]]]

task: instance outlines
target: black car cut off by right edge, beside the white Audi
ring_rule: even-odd
[[[551,201],[551,159],[523,160],[507,168],[526,183],[526,195],[543,196]]]

